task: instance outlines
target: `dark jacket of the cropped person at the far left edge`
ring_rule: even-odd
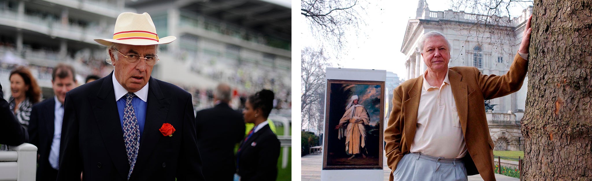
[[[28,140],[27,130],[21,126],[12,114],[8,102],[4,99],[2,85],[0,85],[0,144],[19,146]]]

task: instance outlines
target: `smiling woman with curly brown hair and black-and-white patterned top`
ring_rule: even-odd
[[[29,126],[31,107],[40,101],[41,89],[31,71],[24,66],[18,66],[10,72],[10,91],[12,96],[8,100],[9,108],[18,122],[25,129]]]

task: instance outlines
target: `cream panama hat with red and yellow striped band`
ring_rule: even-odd
[[[113,43],[146,46],[169,44],[176,39],[173,36],[159,38],[154,22],[147,12],[143,14],[124,12],[115,21],[113,39],[95,39],[95,41],[104,46],[111,46]]]

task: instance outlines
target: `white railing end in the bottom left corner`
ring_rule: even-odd
[[[35,180],[37,147],[23,143],[0,151],[0,180]]]

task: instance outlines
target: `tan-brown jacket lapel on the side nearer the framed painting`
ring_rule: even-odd
[[[417,77],[415,83],[408,92],[409,99],[403,102],[404,116],[405,116],[405,140],[407,148],[411,148],[415,131],[417,130],[417,111],[419,109],[419,100],[422,97],[423,76]]]

